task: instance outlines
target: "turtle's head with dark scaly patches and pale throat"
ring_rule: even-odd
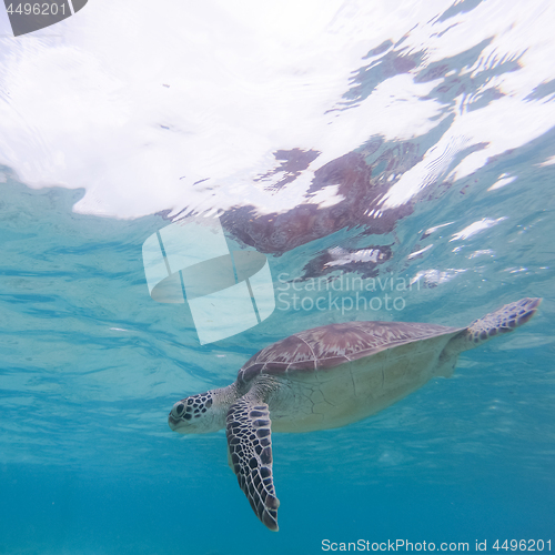
[[[225,423],[214,392],[199,393],[178,401],[168,415],[169,426],[180,434],[204,434],[216,432]]]

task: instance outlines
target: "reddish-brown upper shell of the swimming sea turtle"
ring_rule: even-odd
[[[272,343],[239,371],[238,382],[260,374],[317,372],[394,346],[463,331],[464,327],[408,322],[346,322],[314,327]]]

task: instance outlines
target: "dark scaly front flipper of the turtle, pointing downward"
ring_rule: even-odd
[[[228,412],[231,467],[260,521],[278,531],[278,507],[272,478],[270,411],[265,403],[241,397]]]

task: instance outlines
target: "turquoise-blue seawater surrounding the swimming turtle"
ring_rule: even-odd
[[[453,10],[478,4],[457,2]],[[398,149],[392,182],[463,110],[457,87],[466,88],[468,111],[501,98],[484,95],[484,82],[470,77],[445,81],[485,47],[436,64],[444,81],[428,94],[445,105],[440,128],[411,141],[381,139],[380,152]],[[401,47],[392,52],[353,72],[345,110],[401,71]],[[414,54],[403,71],[418,68],[418,57],[425,58]],[[517,71],[513,62],[494,60],[482,77]],[[427,82],[424,70],[414,71],[415,81]],[[553,113],[553,81],[534,94],[523,105],[542,101]],[[481,124],[497,125],[488,113]],[[370,542],[369,551],[404,541],[421,551],[423,542],[435,551],[446,543],[451,552],[451,544],[467,543],[474,553],[476,542],[486,542],[485,552],[506,553],[494,549],[496,539],[543,541],[544,552],[555,551],[555,130],[456,180],[450,172],[472,153],[463,147],[445,168],[430,169],[433,186],[411,199],[390,231],[373,234],[347,214],[337,230],[266,251],[276,310],[258,326],[206,345],[186,305],[149,296],[141,249],[170,223],[168,213],[77,213],[82,189],[31,189],[17,168],[2,167],[0,553],[316,554],[359,539]],[[381,175],[386,181],[389,162],[371,150],[364,141],[356,152],[376,183]],[[246,246],[231,232],[228,242]],[[356,254],[365,249],[387,256],[364,263]],[[314,291],[311,275],[351,287]],[[361,276],[375,280],[367,299],[380,301],[366,310],[351,303],[352,280]],[[329,294],[339,304],[319,310],[314,301]],[[278,534],[260,524],[238,487],[223,431],[181,436],[168,427],[175,401],[228,385],[258,350],[294,332],[350,320],[464,326],[524,296],[543,297],[538,314],[514,334],[463,353],[453,377],[433,380],[347,427],[274,434]]]

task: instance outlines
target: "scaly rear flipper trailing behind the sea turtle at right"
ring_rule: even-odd
[[[542,299],[521,299],[475,320],[458,336],[453,337],[456,351],[474,349],[496,335],[512,332],[525,324],[536,313],[541,303]]]

